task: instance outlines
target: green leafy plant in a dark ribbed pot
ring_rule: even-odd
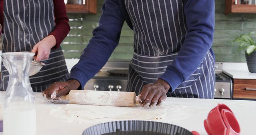
[[[238,51],[245,50],[246,63],[249,71],[256,73],[256,41],[252,38],[252,35],[256,36],[254,32],[242,34],[234,42],[240,43]]]

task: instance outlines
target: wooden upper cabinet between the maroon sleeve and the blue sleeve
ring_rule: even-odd
[[[97,0],[64,0],[68,13],[97,13]]]

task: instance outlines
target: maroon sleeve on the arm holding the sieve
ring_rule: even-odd
[[[53,0],[53,3],[55,27],[49,35],[53,35],[56,38],[56,46],[54,46],[54,48],[58,48],[60,46],[60,43],[68,35],[68,32],[70,31],[70,26],[68,24],[68,16],[64,0]]]

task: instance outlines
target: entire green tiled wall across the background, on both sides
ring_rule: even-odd
[[[92,30],[98,26],[101,6],[104,0],[98,0],[98,14],[68,14],[71,30],[62,43],[66,58],[79,58],[92,38]],[[232,43],[242,33],[256,31],[256,14],[225,15],[225,0],[215,0],[215,33],[213,50],[216,61],[245,62],[244,52],[237,52],[238,44]],[[110,59],[130,60],[133,54],[133,31],[124,24],[120,43]]]

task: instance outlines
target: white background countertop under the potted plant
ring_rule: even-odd
[[[256,79],[256,73],[248,70],[246,63],[223,63],[223,72],[234,79]]]

